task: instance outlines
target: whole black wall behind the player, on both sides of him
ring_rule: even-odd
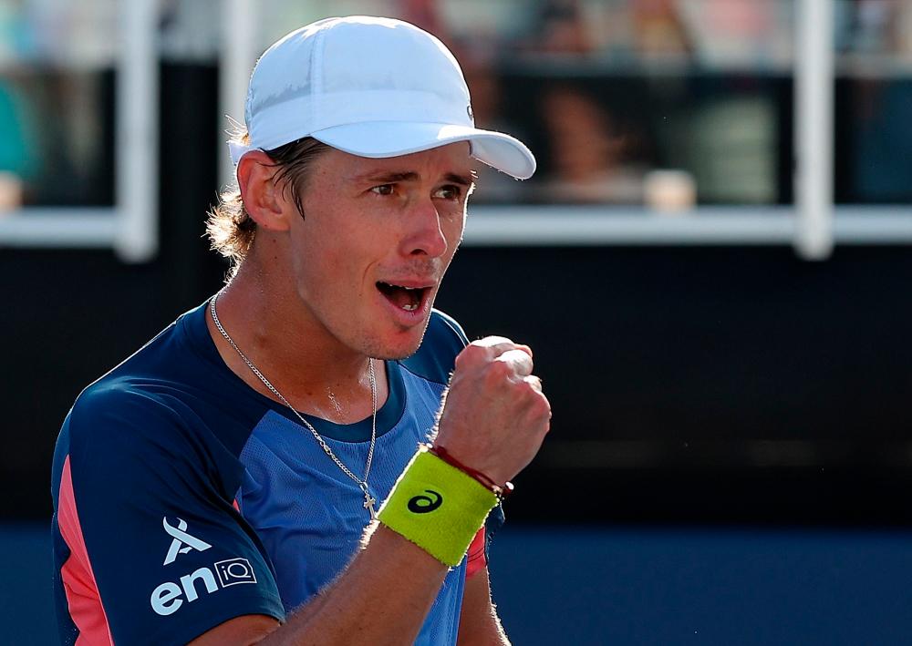
[[[222,282],[202,240],[215,88],[209,68],[162,69],[155,261],[0,251],[4,518],[47,516],[79,390]],[[910,278],[902,247],[820,263],[788,248],[465,248],[438,304],[471,337],[534,347],[554,430],[517,478],[515,519],[907,524]]]

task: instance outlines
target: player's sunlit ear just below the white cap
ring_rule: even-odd
[[[276,182],[275,161],[263,150],[251,150],[237,162],[237,185],[244,210],[257,226],[268,231],[287,231],[294,204],[285,200]]]

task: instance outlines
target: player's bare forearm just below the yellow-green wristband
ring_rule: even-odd
[[[260,643],[411,643],[446,573],[439,560],[379,525],[332,585]]]

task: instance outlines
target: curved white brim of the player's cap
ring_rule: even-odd
[[[343,152],[370,158],[399,157],[468,141],[472,157],[507,175],[529,179],[535,172],[535,157],[522,141],[503,132],[470,126],[384,121],[334,126],[317,130],[310,137]]]

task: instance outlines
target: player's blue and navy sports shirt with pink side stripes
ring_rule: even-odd
[[[60,431],[52,496],[64,644],[182,644],[241,615],[285,620],[358,549],[369,520],[358,484],[292,411],[224,364],[205,311],[183,314],[90,385]],[[434,311],[418,352],[386,362],[368,477],[378,501],[426,440],[465,344],[459,324]],[[363,473],[369,417],[306,418]],[[447,575],[416,643],[456,642],[483,534]]]

